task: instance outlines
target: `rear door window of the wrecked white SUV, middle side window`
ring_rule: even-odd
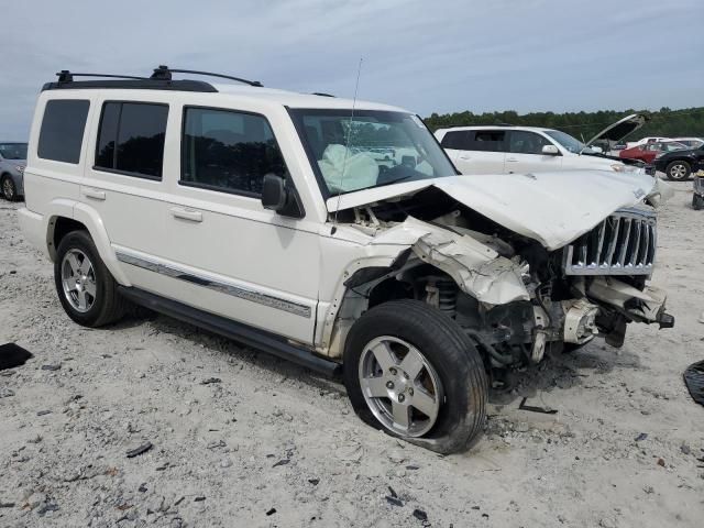
[[[167,105],[106,102],[100,118],[96,168],[162,179]]]

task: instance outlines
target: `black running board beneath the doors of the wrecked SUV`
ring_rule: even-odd
[[[139,288],[119,286],[119,292],[136,305],[144,306],[165,316],[188,322],[209,332],[238,341],[305,366],[327,377],[339,377],[341,365],[327,358],[314,354],[310,350],[296,346],[284,338],[260,330],[224,317],[208,314],[176,300],[170,300]]]

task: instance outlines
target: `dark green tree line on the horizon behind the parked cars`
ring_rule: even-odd
[[[649,135],[704,138],[704,107],[680,110],[663,107],[654,112],[629,109],[624,111],[600,110],[597,112],[531,112],[522,116],[514,110],[484,113],[473,113],[465,110],[455,113],[433,113],[424,121],[433,131],[448,127],[515,124],[562,130],[578,139],[590,140],[609,124],[637,112],[645,113],[650,119],[641,129],[629,135],[628,141],[636,141]]]

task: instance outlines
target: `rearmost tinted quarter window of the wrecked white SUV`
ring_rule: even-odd
[[[89,101],[53,100],[46,103],[37,154],[44,160],[78,163]]]

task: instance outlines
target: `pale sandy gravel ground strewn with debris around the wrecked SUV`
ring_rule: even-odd
[[[704,358],[704,212],[675,187],[653,282],[676,327],[526,373],[446,458],[364,426],[342,386],[172,319],[74,324],[0,202],[0,343],[35,355],[0,373],[0,526],[701,527],[704,407],[682,372]]]

